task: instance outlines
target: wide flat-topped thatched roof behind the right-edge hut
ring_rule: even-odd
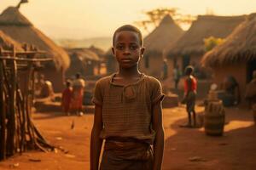
[[[167,51],[172,55],[204,54],[206,52],[204,39],[207,37],[224,38],[238,26],[245,16],[214,16],[199,15],[177,42]]]

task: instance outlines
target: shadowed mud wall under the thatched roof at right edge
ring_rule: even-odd
[[[221,82],[224,82],[224,78],[233,76],[236,78],[236,82],[239,84],[241,101],[244,100],[244,92],[247,84],[247,65],[246,63],[238,63],[233,65],[221,65],[212,68],[213,70],[213,82],[217,83],[218,86]]]

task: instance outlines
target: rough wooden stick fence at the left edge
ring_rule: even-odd
[[[32,122],[35,62],[52,59],[38,58],[44,52],[16,52],[0,48],[0,161],[26,150],[54,150]],[[23,65],[20,66],[19,65]],[[25,67],[26,70],[20,69]],[[18,74],[26,71],[26,89],[20,89]],[[20,80],[20,81],[19,81]]]

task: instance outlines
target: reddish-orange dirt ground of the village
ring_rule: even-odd
[[[203,111],[203,108],[197,107],[196,111]],[[256,126],[250,111],[226,109],[222,137],[207,136],[203,128],[179,127],[186,122],[183,106],[164,109],[163,115],[166,133],[163,169],[256,169]],[[64,151],[27,152],[0,162],[1,170],[89,169],[93,114],[63,116],[62,113],[37,113],[33,119],[44,137]]]

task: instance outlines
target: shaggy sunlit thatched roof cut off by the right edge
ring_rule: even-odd
[[[256,14],[247,16],[223,44],[205,54],[202,64],[224,65],[250,59],[256,59]]]

